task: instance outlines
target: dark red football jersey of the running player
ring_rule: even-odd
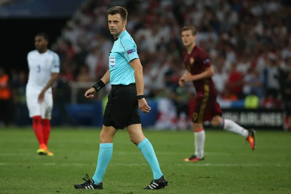
[[[186,49],[183,51],[183,61],[185,67],[189,72],[191,72],[192,75],[202,73],[206,68],[210,67],[211,65],[210,59],[206,52],[204,52],[204,50],[197,45],[195,45],[190,54],[188,54]],[[197,94],[217,94],[211,77],[193,81],[193,84]]]

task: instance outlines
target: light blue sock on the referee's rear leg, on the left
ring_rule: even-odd
[[[95,174],[92,178],[95,184],[99,184],[100,182],[102,182],[106,168],[112,157],[112,152],[113,152],[112,143],[100,144],[97,167],[96,167]]]

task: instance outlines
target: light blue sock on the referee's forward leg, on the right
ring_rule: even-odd
[[[149,163],[154,175],[154,179],[159,179],[162,177],[162,171],[158,159],[156,157],[155,151],[148,139],[144,139],[137,147],[142,151],[146,161]]]

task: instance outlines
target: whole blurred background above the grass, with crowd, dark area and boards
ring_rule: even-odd
[[[185,71],[180,28],[194,25],[215,70],[223,116],[246,128],[291,129],[290,0],[0,0],[0,101],[9,106],[0,107],[1,127],[31,124],[26,56],[37,32],[49,35],[61,59],[51,124],[102,126],[110,85],[94,100],[83,95],[108,70],[106,11],[116,5],[128,10],[127,31],[144,67],[152,108],[141,113],[144,127],[192,128],[195,90],[192,83],[179,87],[178,78]]]

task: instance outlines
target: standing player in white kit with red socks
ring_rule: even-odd
[[[48,49],[48,43],[48,35],[38,33],[34,42],[36,50],[27,55],[29,79],[26,85],[26,101],[32,118],[32,128],[39,143],[37,153],[53,156],[48,149],[53,106],[51,85],[60,73],[60,58]]]

